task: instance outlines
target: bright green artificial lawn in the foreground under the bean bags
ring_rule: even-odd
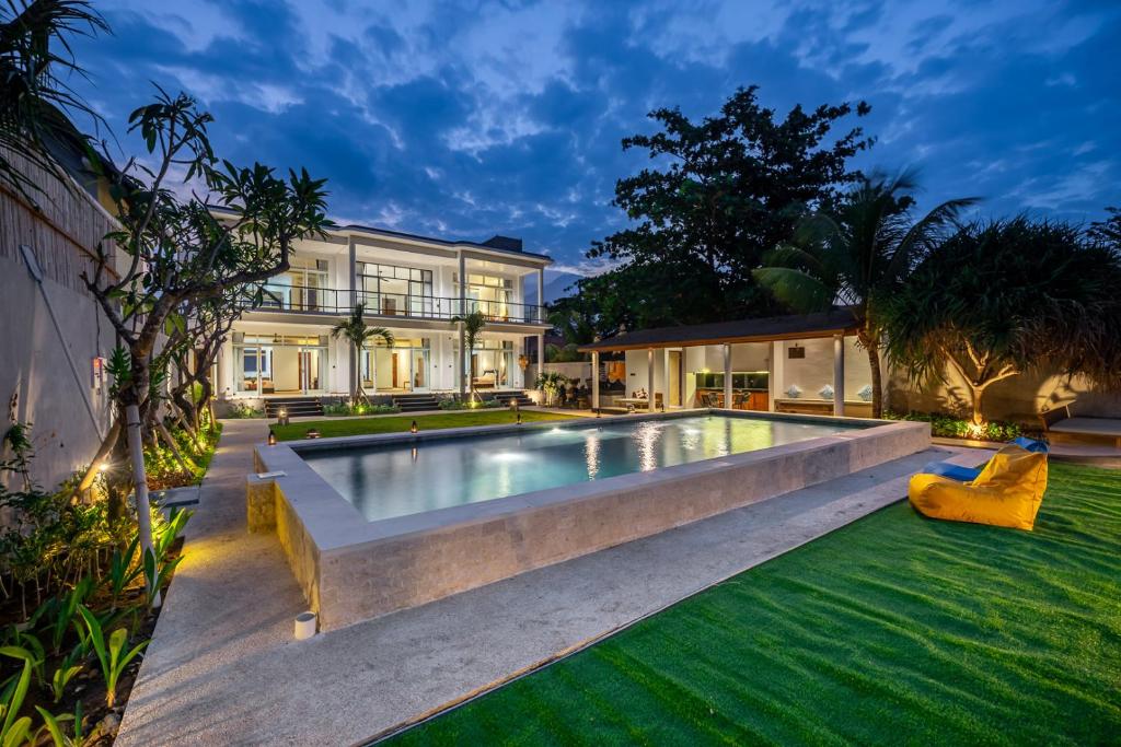
[[[1121,473],[1053,464],[1035,532],[895,504],[395,744],[1118,744],[1119,693]]]

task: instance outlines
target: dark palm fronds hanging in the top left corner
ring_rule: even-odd
[[[68,189],[71,181],[49,156],[48,143],[80,156],[87,149],[67,114],[102,123],[66,83],[73,74],[84,75],[66,37],[98,31],[109,31],[109,26],[84,0],[9,0],[0,6],[0,185],[33,205],[44,188],[26,165]],[[25,162],[11,153],[20,153]]]

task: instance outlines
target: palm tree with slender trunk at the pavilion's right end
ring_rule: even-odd
[[[895,178],[862,177],[835,215],[806,216],[793,240],[768,252],[765,267],[753,272],[761,286],[796,311],[827,310],[834,304],[852,307],[860,320],[856,339],[871,367],[873,418],[883,415],[881,308],[926,253],[957,226],[962,208],[978,202],[946,200],[912,222],[916,186],[911,170]]]

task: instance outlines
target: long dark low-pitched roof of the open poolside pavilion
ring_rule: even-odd
[[[591,345],[582,345],[580,349],[583,352],[626,351],[647,347],[675,347],[678,345],[797,339],[821,337],[827,334],[852,333],[858,324],[856,315],[851,308],[846,307],[818,314],[794,314],[784,317],[639,329],[592,343]]]

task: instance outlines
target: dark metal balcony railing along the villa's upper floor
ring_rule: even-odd
[[[365,312],[369,316],[451,319],[461,312],[458,298],[368,291],[356,291],[355,296],[358,302],[365,305]],[[248,302],[245,307],[252,308]],[[265,286],[263,300],[252,310],[344,316],[351,311],[351,291],[306,286]],[[494,323],[532,324],[544,318],[541,307],[532,304],[469,298],[466,312],[472,311],[482,311],[488,321]]]

